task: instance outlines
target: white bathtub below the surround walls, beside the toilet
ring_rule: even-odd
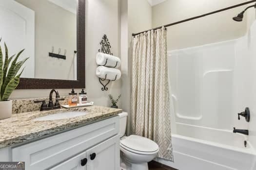
[[[177,124],[172,134],[175,162],[156,159],[178,170],[256,170],[256,154],[246,136],[213,128]]]

